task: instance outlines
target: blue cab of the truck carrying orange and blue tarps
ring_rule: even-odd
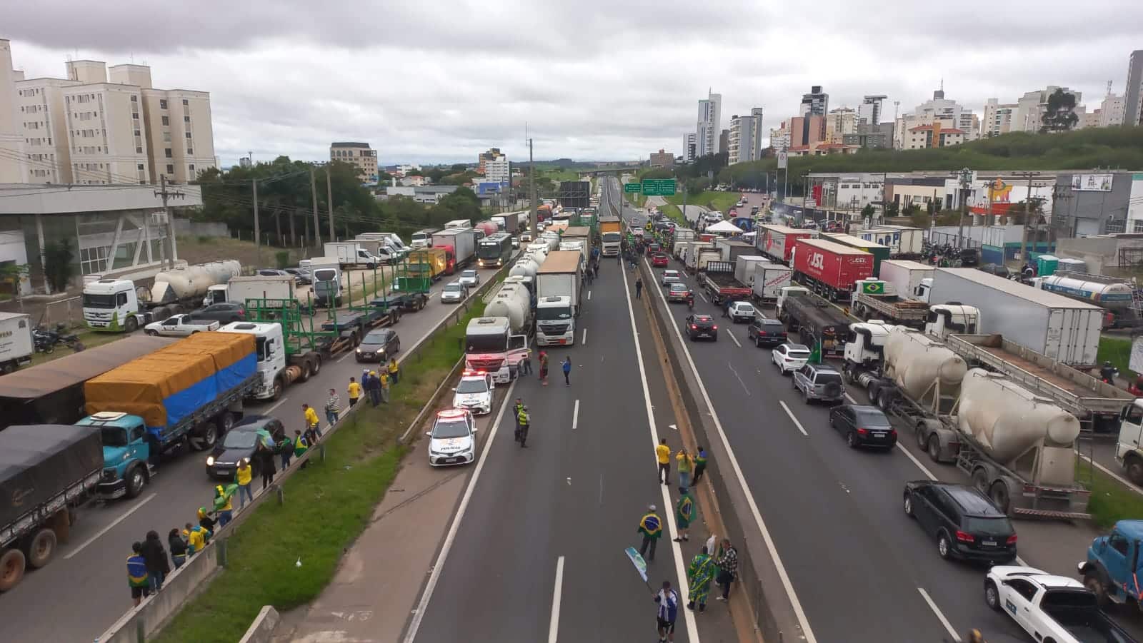
[[[75,423],[99,429],[103,442],[103,474],[96,488],[101,498],[135,498],[151,480],[152,445],[158,440],[147,432],[143,418],[103,411]]]

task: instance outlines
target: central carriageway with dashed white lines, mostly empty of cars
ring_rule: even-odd
[[[681,441],[648,322],[639,303],[632,306],[633,278],[616,262],[605,260],[585,288],[576,345],[550,351],[550,385],[533,376],[510,389],[531,413],[528,448],[512,440],[505,413],[406,641],[652,641],[653,594],[624,555],[639,545],[648,504],[668,525],[649,582],[684,585],[680,569],[701,544],[672,542],[677,496],[656,482],[658,437],[672,449]],[[565,355],[572,386],[559,368]],[[694,528],[704,533],[701,523]],[[736,640],[726,606],[713,596],[710,603],[697,619],[682,610],[676,641],[697,641],[696,621],[703,637],[709,629],[709,640]]]

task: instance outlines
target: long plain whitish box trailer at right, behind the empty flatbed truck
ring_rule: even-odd
[[[937,268],[929,303],[980,308],[989,332],[1077,369],[1090,369],[1103,310],[975,268]]]

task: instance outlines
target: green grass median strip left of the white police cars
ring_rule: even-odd
[[[227,540],[227,566],[154,641],[233,643],[263,605],[285,611],[318,597],[410,450],[397,437],[456,364],[467,320],[480,316],[483,307],[475,298],[459,323],[426,339],[421,357],[410,356],[401,364],[392,403],[362,409],[344,420],[350,424],[326,442],[326,460],[313,461],[286,481],[285,505],[267,500],[238,527]],[[167,529],[170,525],[162,528],[163,533]]]

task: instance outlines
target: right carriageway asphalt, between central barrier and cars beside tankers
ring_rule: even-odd
[[[682,271],[677,262],[670,267]],[[984,568],[942,561],[904,515],[904,483],[926,477],[918,463],[904,449],[848,449],[829,427],[828,408],[807,407],[769,351],[746,343],[745,324],[730,324],[704,297],[695,302],[696,313],[717,318],[719,340],[685,345],[730,448],[749,463],[748,492],[814,638],[959,641],[976,627],[990,643],[1025,641],[1010,618],[985,606]],[[687,307],[670,311],[681,332]]]

